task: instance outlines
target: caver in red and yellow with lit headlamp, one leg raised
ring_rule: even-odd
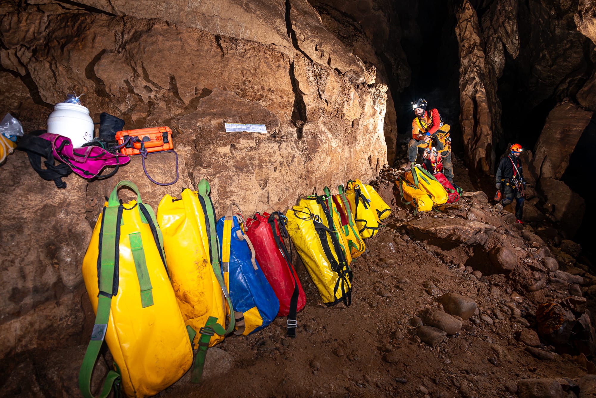
[[[453,182],[453,163],[451,163],[451,138],[449,126],[443,123],[439,111],[431,109],[426,111],[426,99],[420,98],[412,102],[412,109],[416,117],[412,120],[412,139],[408,144],[408,163],[416,163],[418,148],[435,147],[443,161],[443,174]]]

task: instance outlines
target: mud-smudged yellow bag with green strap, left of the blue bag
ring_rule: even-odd
[[[234,330],[233,318],[226,328],[232,303],[219,265],[216,216],[209,191],[209,182],[203,179],[198,191],[185,188],[179,199],[166,195],[157,207],[157,223],[178,306],[187,326],[198,332],[193,341],[198,349],[193,383],[200,381],[207,347]]]

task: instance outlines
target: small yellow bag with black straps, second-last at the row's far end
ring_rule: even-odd
[[[371,198],[364,184],[358,179],[348,181],[346,197],[354,212],[356,228],[358,228],[358,234],[362,239],[372,238],[377,235],[379,224],[377,212],[371,206]]]

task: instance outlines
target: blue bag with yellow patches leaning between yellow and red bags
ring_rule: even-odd
[[[280,311],[280,301],[260,269],[242,212],[234,214],[231,203],[217,223],[219,250],[235,314],[237,335],[249,335],[271,324]]]

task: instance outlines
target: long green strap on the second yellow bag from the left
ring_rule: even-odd
[[[216,216],[215,216],[215,209],[211,203],[211,198],[209,197],[209,193],[211,192],[211,186],[206,179],[202,179],[197,184],[197,191],[198,195],[203,198],[203,203],[205,204],[205,212],[207,216],[207,222],[209,225],[207,226],[207,230],[209,231],[209,241],[211,242],[211,266],[213,268],[213,273],[215,277],[218,279],[219,286],[224,293],[224,297],[226,303],[228,304],[228,308],[231,314],[234,314],[234,307],[232,307],[232,300],[229,298],[228,289],[226,288],[224,276],[222,275],[222,269],[219,265],[219,244],[218,244],[218,236],[216,234]],[[200,383],[201,376],[203,375],[203,366],[205,363],[205,357],[207,355],[207,349],[209,348],[209,340],[211,336],[215,333],[225,336],[229,332],[234,330],[235,325],[235,318],[234,316],[230,316],[230,321],[228,328],[226,329],[224,326],[218,324],[217,318],[210,316],[205,323],[205,326],[202,327],[198,332],[201,334],[198,343],[198,350],[197,355],[194,359],[193,371],[191,374],[191,383]],[[192,341],[191,341],[192,343]]]

